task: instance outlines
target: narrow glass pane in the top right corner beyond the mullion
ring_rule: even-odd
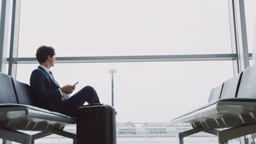
[[[245,14],[246,14],[246,29],[247,29],[247,39],[248,39],[248,51],[253,52],[253,47],[256,46],[256,1],[245,0]]]

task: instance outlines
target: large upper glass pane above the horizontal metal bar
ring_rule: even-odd
[[[231,53],[228,1],[22,1],[19,57],[40,45],[61,57]]]

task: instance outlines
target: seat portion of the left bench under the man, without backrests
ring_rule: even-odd
[[[19,123],[19,125],[17,125]],[[0,127],[16,130],[62,130],[69,124],[75,124],[76,119],[51,112],[38,107],[20,104],[0,105]]]

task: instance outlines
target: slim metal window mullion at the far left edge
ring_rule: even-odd
[[[7,64],[6,52],[8,46],[10,1],[2,0],[1,7],[2,8],[0,21],[0,72],[5,73],[5,65]]]

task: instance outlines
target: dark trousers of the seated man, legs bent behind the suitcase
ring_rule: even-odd
[[[87,101],[88,104],[100,103],[97,92],[91,86],[82,88],[79,92],[75,93],[72,97],[62,101],[61,113],[71,117],[77,117],[78,107],[84,105]]]

